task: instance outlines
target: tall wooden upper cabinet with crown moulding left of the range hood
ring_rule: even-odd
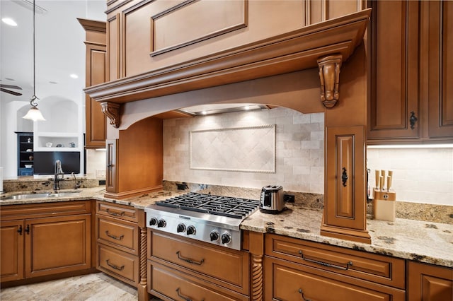
[[[86,86],[107,81],[105,22],[79,19],[86,31]],[[106,117],[101,104],[85,96],[86,148],[105,148]]]

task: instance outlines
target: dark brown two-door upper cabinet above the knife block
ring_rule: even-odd
[[[368,144],[453,141],[453,3],[371,1]]]

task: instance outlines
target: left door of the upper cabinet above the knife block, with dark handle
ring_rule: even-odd
[[[369,143],[418,138],[418,1],[371,1]],[[412,120],[415,121],[415,118]]]

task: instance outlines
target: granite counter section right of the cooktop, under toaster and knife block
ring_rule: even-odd
[[[453,267],[453,225],[396,218],[395,222],[367,218],[372,243],[364,244],[321,236],[322,210],[291,204],[279,214],[256,211],[241,229],[275,233],[349,249]]]

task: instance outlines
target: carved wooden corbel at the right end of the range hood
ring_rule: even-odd
[[[318,59],[321,102],[323,102],[324,107],[331,108],[335,106],[340,97],[338,83],[340,81],[342,58],[340,54],[337,54]]]

